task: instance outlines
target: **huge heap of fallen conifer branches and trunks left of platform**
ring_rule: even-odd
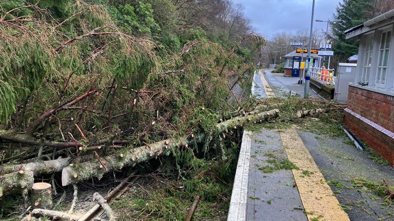
[[[58,21],[37,4],[0,14],[0,197],[48,175],[55,190],[56,172],[63,186],[100,179],[197,141],[209,152],[212,134],[278,116],[225,121],[257,105],[228,100],[258,62],[235,51],[260,47],[259,35],[229,51],[195,40],[168,55],[122,32],[102,5],[76,1]]]

